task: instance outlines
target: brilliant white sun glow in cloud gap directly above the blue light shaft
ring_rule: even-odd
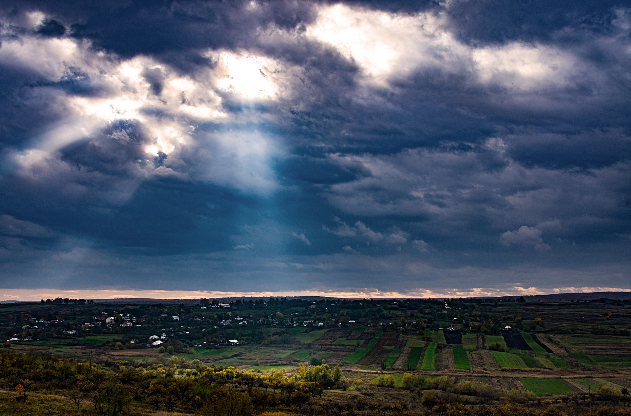
[[[276,92],[266,66],[252,57],[223,55],[227,69],[226,78],[217,85],[224,90],[233,90],[246,98],[267,98]]]

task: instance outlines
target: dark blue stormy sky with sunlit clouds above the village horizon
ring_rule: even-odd
[[[631,290],[630,40],[623,1],[1,1],[0,300]]]

